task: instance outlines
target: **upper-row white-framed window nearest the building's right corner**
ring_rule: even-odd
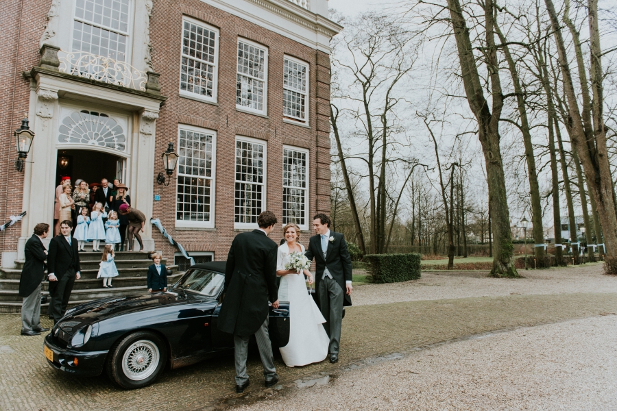
[[[306,122],[309,97],[309,66],[286,57],[283,62],[283,115]]]

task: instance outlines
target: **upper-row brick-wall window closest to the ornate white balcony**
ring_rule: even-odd
[[[218,37],[213,27],[184,18],[180,94],[186,92],[206,100],[216,100]]]

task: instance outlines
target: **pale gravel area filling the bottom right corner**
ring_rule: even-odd
[[[617,316],[487,334],[242,410],[616,410]]]

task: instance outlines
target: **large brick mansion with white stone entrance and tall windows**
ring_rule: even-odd
[[[2,267],[52,223],[62,175],[119,177],[197,260],[225,259],[262,210],[308,232],[330,208],[329,42],[341,27],[327,14],[327,0],[3,1],[0,216],[27,215],[0,234]],[[19,172],[25,114],[36,136]],[[169,142],[180,157],[166,186]],[[153,228],[145,249],[183,263]]]

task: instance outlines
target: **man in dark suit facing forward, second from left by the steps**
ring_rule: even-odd
[[[64,220],[60,223],[60,235],[51,238],[47,256],[49,279],[49,316],[57,323],[66,312],[69,297],[73,291],[75,279],[80,279],[80,253],[77,240],[71,236],[73,222]]]

